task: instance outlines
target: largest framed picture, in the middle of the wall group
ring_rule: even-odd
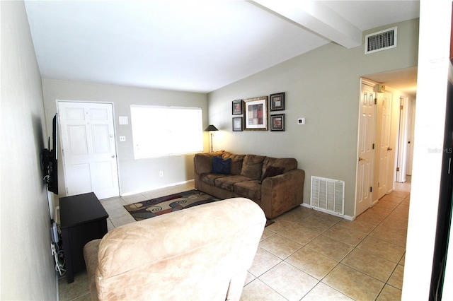
[[[268,97],[243,100],[244,129],[247,131],[268,130]]]

